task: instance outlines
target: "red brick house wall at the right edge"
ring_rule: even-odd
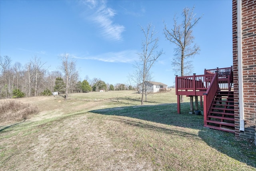
[[[232,1],[234,113],[236,136],[256,137],[256,0],[242,0],[242,71],[244,132],[240,131],[237,56],[237,0]],[[256,140],[255,140],[256,142]]]

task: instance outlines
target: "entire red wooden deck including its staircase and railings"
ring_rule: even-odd
[[[216,68],[211,70],[204,70],[204,75],[184,76],[175,78],[176,81],[176,95],[177,95],[177,112],[180,113],[180,96],[186,95],[190,96],[190,110],[193,111],[193,96],[198,99],[204,97],[204,126],[210,127],[222,131],[234,132],[232,129],[234,127],[234,118],[226,117],[226,115],[234,115],[230,113],[225,113],[228,108],[232,105],[227,103],[224,108],[216,108],[213,104],[214,100],[222,98],[222,92],[225,90],[228,95],[232,96],[232,83],[233,83],[233,68]],[[222,91],[221,91],[222,90]],[[231,97],[226,97],[231,98]],[[191,102],[192,101],[192,102]],[[221,102],[224,103],[224,102]],[[216,111],[218,109],[219,111]],[[234,110],[234,109],[233,109]],[[232,109],[229,109],[232,111]],[[212,114],[214,113],[214,114]],[[218,116],[221,115],[221,116]],[[233,117],[233,116],[232,116]],[[215,119],[215,120],[214,120]],[[226,122],[226,121],[229,122]],[[225,122],[224,122],[225,121]],[[217,126],[216,126],[217,125]],[[223,127],[224,125],[224,127]],[[227,129],[225,127],[231,127]]]

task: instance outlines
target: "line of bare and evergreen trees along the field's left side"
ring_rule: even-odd
[[[63,65],[65,64],[61,64],[60,68]],[[106,84],[98,78],[81,81],[75,65],[72,67],[73,72],[66,79],[64,71],[61,72],[60,69],[49,72],[46,63],[36,56],[24,66],[20,62],[13,64],[9,56],[0,56],[0,99],[52,95],[54,91],[65,93],[66,89],[68,93],[134,89],[126,84]]]

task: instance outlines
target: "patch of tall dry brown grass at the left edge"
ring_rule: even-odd
[[[15,99],[0,100],[0,125],[28,119],[38,114],[38,107]]]

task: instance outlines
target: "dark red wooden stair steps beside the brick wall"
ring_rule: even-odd
[[[217,91],[205,127],[234,133],[234,91]]]

